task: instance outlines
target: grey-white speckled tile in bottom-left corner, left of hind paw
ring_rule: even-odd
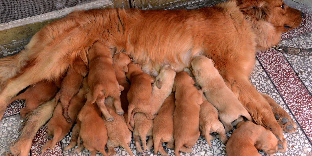
[[[0,122],[0,155],[5,155],[8,150],[8,145],[17,140],[22,127],[23,119],[19,114],[4,117]],[[29,154],[28,154],[29,155]]]

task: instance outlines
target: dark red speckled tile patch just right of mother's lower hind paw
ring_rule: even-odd
[[[32,156],[37,156],[40,155],[40,148],[46,143],[46,125],[42,126],[35,138],[32,140],[32,147],[31,147],[31,153]],[[61,144],[58,142],[55,146],[54,149],[50,150],[48,148],[45,153],[42,154],[43,156],[62,156],[62,149],[61,149]]]

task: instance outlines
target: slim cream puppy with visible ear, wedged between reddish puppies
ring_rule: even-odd
[[[175,75],[176,72],[174,71],[173,66],[166,64],[161,68],[158,76],[155,78],[155,82],[152,85],[150,100],[152,115],[154,115],[154,117],[157,115],[163,102],[172,92]]]

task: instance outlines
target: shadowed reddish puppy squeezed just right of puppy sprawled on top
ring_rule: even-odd
[[[131,62],[128,55],[119,52],[113,56],[113,67],[116,74],[116,79],[119,85],[124,87],[124,90],[121,91],[120,94],[120,101],[121,101],[121,108],[127,112],[128,111],[128,99],[127,93],[130,89],[130,83],[127,81],[127,77],[125,75],[128,72],[128,64]]]

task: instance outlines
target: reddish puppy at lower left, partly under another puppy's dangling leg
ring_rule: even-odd
[[[85,105],[86,94],[85,88],[81,88],[79,92],[71,99],[68,107],[68,115],[72,119],[72,122],[67,122],[62,115],[62,105],[58,103],[53,112],[53,116],[46,125],[46,138],[52,138],[48,140],[40,149],[40,154],[42,155],[46,149],[50,147],[52,149],[54,145],[61,141],[65,135],[70,131],[73,124],[76,122],[76,117],[83,105]]]

